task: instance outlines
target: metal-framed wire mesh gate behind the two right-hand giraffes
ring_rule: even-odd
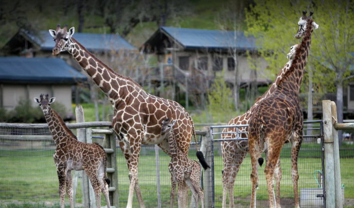
[[[309,126],[309,127],[307,127]],[[216,126],[215,126],[216,127]],[[213,131],[214,128],[212,128]],[[220,131],[219,131],[220,132]],[[239,132],[242,133],[241,131]],[[323,208],[323,197],[316,195],[323,194],[322,189],[322,172],[323,172],[323,154],[321,150],[321,126],[318,123],[304,123],[304,139],[301,144],[301,150],[298,157],[298,192],[301,208]],[[236,141],[236,139],[234,139]],[[235,164],[231,169],[224,170],[223,158],[221,156],[221,134],[213,135],[213,158],[214,158],[214,204],[215,208],[222,207],[223,199],[223,181],[222,172],[229,172],[235,175],[233,185],[234,205],[237,208],[248,208],[251,196],[251,180],[250,173],[252,171],[251,161],[247,151],[236,151],[231,163]],[[236,141],[238,142],[238,141]],[[291,179],[291,143],[284,144],[281,158],[281,199],[280,203],[283,208],[294,207],[294,189]],[[265,158],[265,154],[262,156]],[[240,166],[236,164],[240,164]],[[258,168],[259,186],[257,189],[257,208],[269,207],[268,191],[263,172],[264,167]],[[238,172],[236,169],[238,169]],[[232,181],[228,183],[232,184]],[[231,185],[232,186],[232,185]],[[275,180],[274,180],[275,186]],[[227,190],[227,189],[226,189]],[[230,203],[229,193],[227,197],[227,207]],[[277,199],[278,200],[278,199]]]

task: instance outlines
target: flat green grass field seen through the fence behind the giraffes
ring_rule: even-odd
[[[282,203],[291,204],[293,202],[293,186],[291,182],[291,166],[289,158],[288,145],[283,149],[282,160]],[[219,156],[218,144],[214,143],[214,186],[215,186],[215,207],[221,207],[222,200],[222,181],[221,170],[223,169],[222,157]],[[4,148],[1,148],[4,149]],[[344,154],[344,152],[343,152]],[[345,198],[354,199],[354,156],[352,158],[341,159],[342,183],[345,185]],[[191,158],[195,158],[195,151],[191,148],[189,153]],[[341,155],[342,156],[342,155]],[[38,148],[22,149],[21,151],[0,151],[0,208],[7,204],[8,208],[39,208],[39,207],[57,207],[58,179],[53,162],[53,146],[48,146],[45,150]],[[126,161],[121,151],[117,154],[119,193],[121,206],[126,204],[127,192],[129,187],[128,169]],[[160,186],[162,207],[167,207],[170,200],[170,173],[167,166],[170,158],[162,151],[159,152]],[[264,167],[263,167],[264,168]],[[260,205],[266,206],[267,192],[263,168],[259,169],[259,190],[257,191],[257,200]],[[304,144],[299,156],[299,193],[301,188],[316,188],[317,182],[313,173],[316,170],[321,171],[321,159],[319,148],[315,144]],[[249,174],[251,165],[249,156],[246,157],[241,169],[236,177],[234,186],[234,196],[238,205],[249,204],[249,195],[251,183]],[[157,186],[156,186],[156,163],[154,147],[143,147],[139,163],[139,184],[146,207],[157,207]],[[134,205],[137,206],[136,197]],[[66,202],[68,199],[66,198]],[[10,204],[8,204],[10,203]],[[30,205],[16,205],[17,203],[28,203]],[[35,204],[33,204],[35,203]],[[38,203],[38,204],[36,204]],[[82,195],[80,180],[78,193],[76,197],[76,207],[82,206]],[[177,197],[175,204],[177,206]],[[102,206],[105,206],[105,200],[102,195]],[[37,207],[36,207],[37,206]]]

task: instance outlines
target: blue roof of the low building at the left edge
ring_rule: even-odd
[[[0,57],[0,82],[64,84],[87,80],[60,58]]]

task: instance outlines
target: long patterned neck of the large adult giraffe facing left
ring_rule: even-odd
[[[116,107],[119,101],[130,96],[134,90],[142,89],[130,78],[114,72],[72,37],[68,52],[105,93],[113,107]]]

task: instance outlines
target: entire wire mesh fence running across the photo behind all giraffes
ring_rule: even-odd
[[[322,182],[323,155],[321,137],[321,122],[305,123],[304,134],[307,135],[301,145],[299,153],[299,198],[301,208],[323,207],[323,198],[316,195],[323,194]],[[77,128],[71,128],[76,135]],[[96,128],[96,127],[92,127]],[[109,127],[97,127],[106,129]],[[215,129],[216,130],[216,129]],[[220,128],[218,131],[221,132]],[[198,136],[198,139],[199,136]],[[203,137],[203,139],[208,139]],[[210,138],[209,138],[210,139]],[[213,163],[211,172],[203,171],[201,178],[205,195],[212,197],[215,208],[222,207],[223,184],[222,171],[224,169],[221,156],[220,135],[213,136],[212,148],[207,148],[204,153],[206,159]],[[104,144],[103,135],[92,135],[92,141]],[[342,183],[344,184],[344,207],[352,207],[354,204],[354,146],[352,140],[343,141],[340,147],[340,163]],[[198,144],[199,147],[201,144]],[[284,208],[294,206],[294,192],[291,180],[291,144],[285,144],[281,152],[281,205]],[[53,153],[56,146],[48,128],[18,128],[0,127],[0,204],[8,203],[38,203],[39,207],[57,207],[59,205],[58,178],[56,175]],[[120,206],[125,206],[129,189],[129,170],[122,151],[117,143],[117,171],[118,191]],[[191,143],[189,157],[196,160],[195,143]],[[264,154],[263,154],[264,156]],[[264,156],[265,157],[265,156]],[[170,157],[155,145],[142,145],[139,159],[138,178],[142,191],[142,198],[146,208],[169,207],[171,192],[171,174],[168,171]],[[259,168],[259,189],[257,190],[257,207],[268,207],[268,194],[264,176],[264,167]],[[251,162],[249,156],[245,156],[240,170],[235,178],[233,186],[234,204],[237,208],[249,207],[251,194]],[[206,181],[206,175],[211,175],[212,183]],[[322,181],[322,182],[321,182]],[[160,190],[160,191],[158,191]],[[209,191],[209,192],[207,192]],[[176,191],[177,193],[177,191]],[[83,207],[81,180],[78,181],[75,207]],[[307,202],[307,204],[306,204]],[[65,200],[68,205],[68,197]],[[189,204],[191,203],[191,191],[189,191]],[[227,207],[229,206],[227,197]],[[102,194],[102,206],[106,206],[106,200]],[[177,196],[174,207],[177,206]],[[138,200],[134,194],[133,207],[138,206]]]

